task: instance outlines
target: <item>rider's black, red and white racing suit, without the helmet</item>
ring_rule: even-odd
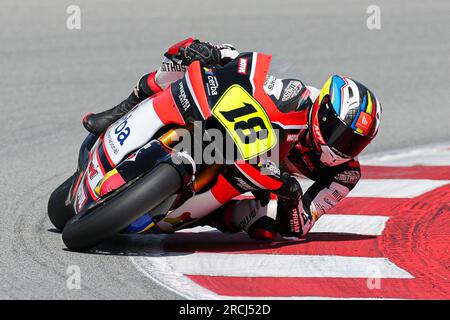
[[[228,44],[211,45],[187,39],[165,53],[162,65],[154,72],[143,75],[131,95],[118,106],[96,115],[87,115],[83,124],[90,132],[102,133],[118,117],[130,111],[134,105],[167,88],[184,76],[186,67],[194,60],[203,64],[225,65],[238,57],[239,52]],[[282,112],[309,110],[319,90],[306,86],[298,79],[281,79],[268,75],[265,92]],[[157,225],[161,232],[172,232],[198,225],[213,226],[224,232],[246,231],[251,238],[273,240],[277,234],[283,237],[306,235],[314,223],[328,210],[337,205],[354,188],[360,178],[360,165],[349,159],[339,165],[325,164],[315,151],[307,129],[290,137],[294,147],[284,159],[280,159],[278,175],[283,185],[274,192],[254,190],[253,198],[231,200],[212,212],[203,212],[203,198],[190,199],[189,204],[177,214]],[[302,176],[314,183],[303,194]],[[240,189],[246,182],[237,178]],[[251,189],[251,188],[247,188]],[[207,200],[206,200],[207,201]],[[196,209],[198,206],[198,209]],[[185,219],[189,211],[203,212],[195,219]],[[203,216],[202,216],[203,215]],[[172,223],[173,222],[173,223]],[[181,223],[179,223],[181,222]]]

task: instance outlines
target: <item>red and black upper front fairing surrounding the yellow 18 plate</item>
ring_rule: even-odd
[[[224,67],[205,67],[199,61],[195,61],[189,66],[187,76],[172,84],[171,90],[174,101],[180,113],[189,119],[205,119],[211,116],[211,111],[214,110],[225,92],[231,86],[238,83],[259,105],[263,106],[272,126],[278,129],[279,141],[277,148],[279,150],[277,152],[280,152],[281,159],[292,148],[293,143],[295,143],[295,141],[288,141],[287,137],[289,135],[292,136],[292,134],[298,134],[300,130],[307,128],[307,112],[302,110],[283,113],[264,91],[264,82],[267,78],[270,62],[270,55],[257,52],[242,53],[238,58],[232,60]],[[214,85],[214,88],[211,87],[212,85]],[[179,98],[180,96],[187,98],[189,108],[183,108],[183,101]],[[211,117],[211,119],[212,121],[210,122],[213,123],[216,120],[215,117]],[[249,160],[252,157],[258,157],[260,160],[259,163],[269,161],[269,159],[265,159],[265,155],[260,157],[255,152],[242,154],[241,160]],[[264,174],[261,173],[261,167],[258,167],[258,165],[247,164],[236,166],[236,168],[256,188],[262,187],[264,189],[274,190],[280,186],[277,177],[266,176],[261,178],[261,175]]]

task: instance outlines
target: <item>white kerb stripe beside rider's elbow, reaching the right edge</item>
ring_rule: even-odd
[[[304,191],[314,183],[301,180]],[[450,180],[429,179],[361,179],[348,197],[414,198],[450,183]]]

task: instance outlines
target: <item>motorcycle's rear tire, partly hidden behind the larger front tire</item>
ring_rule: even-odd
[[[75,175],[64,181],[55,191],[52,192],[47,204],[47,214],[51,223],[56,229],[62,230],[72,217],[75,216],[75,212],[71,205],[66,206],[66,199],[69,195],[70,187]]]

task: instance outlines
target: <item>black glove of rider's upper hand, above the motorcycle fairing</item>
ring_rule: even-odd
[[[220,63],[221,55],[218,48],[208,42],[194,40],[186,48],[180,48],[180,60],[183,65],[190,65],[199,60],[206,66],[214,66]]]

